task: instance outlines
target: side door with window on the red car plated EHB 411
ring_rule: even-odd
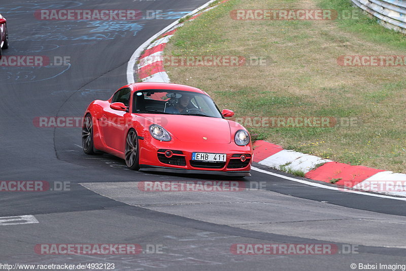
[[[114,110],[110,106],[103,109],[103,116],[100,118],[100,124],[103,127],[103,135],[106,145],[120,152],[124,152],[123,138],[125,138],[126,119],[130,117],[131,89],[124,87],[119,89],[113,96],[111,103],[123,103],[128,107],[127,112]]]

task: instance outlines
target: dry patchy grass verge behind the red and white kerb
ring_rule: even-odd
[[[358,125],[347,128],[250,131],[285,148],[406,173],[406,67],[341,67],[336,61],[340,55],[403,55],[406,38],[388,32],[399,42],[387,44],[385,31],[377,40],[347,30],[345,23],[366,28],[356,20],[236,21],[229,15],[233,9],[315,8],[313,0],[231,0],[186,23],[165,54],[264,56],[267,65],[165,69],[173,82],[204,89],[236,116],[357,117]]]

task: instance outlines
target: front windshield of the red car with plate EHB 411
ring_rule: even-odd
[[[134,93],[134,113],[197,115],[222,118],[213,100],[204,94],[172,90]]]

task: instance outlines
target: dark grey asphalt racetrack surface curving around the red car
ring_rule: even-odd
[[[351,264],[358,269],[360,263],[406,264],[403,200],[318,188],[255,170],[240,179],[131,171],[113,156],[85,155],[80,127],[38,127],[38,117],[81,117],[91,101],[108,99],[127,83],[127,62],[134,50],[206,2],[0,2],[10,38],[4,55],[50,59],[47,66],[0,67],[0,180],[65,185],[44,192],[0,192],[0,263],[103,263],[129,271],[324,271],[352,270]],[[34,14],[42,9],[160,10],[162,17],[40,20]],[[253,189],[170,193],[139,189],[139,182],[171,180],[238,180]],[[7,222],[14,216],[30,219]],[[41,244],[138,244],[143,251],[49,254],[38,251]],[[278,248],[295,244],[296,249],[322,244],[336,249],[246,255],[234,250],[239,244],[243,252],[249,251],[244,244]]]

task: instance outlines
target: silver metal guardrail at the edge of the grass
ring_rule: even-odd
[[[406,34],[406,1],[351,0],[357,7],[378,18],[383,26]]]

